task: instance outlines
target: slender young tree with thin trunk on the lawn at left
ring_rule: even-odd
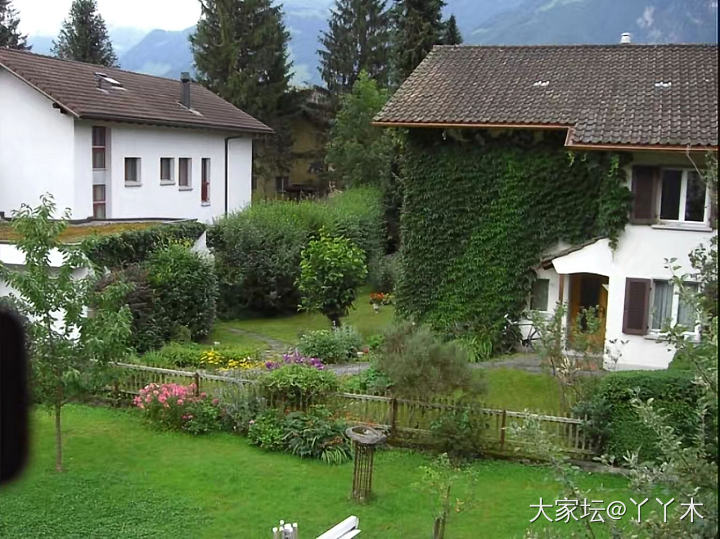
[[[131,316],[122,303],[127,285],[99,291],[93,273],[80,276],[89,261],[79,247],[59,239],[69,212],[59,221],[54,214],[49,195],[37,208],[23,204],[14,212],[12,227],[25,265],[22,270],[0,266],[0,281],[10,285],[13,306],[28,321],[31,387],[36,401],[54,410],[55,468],[62,471],[62,407],[97,387],[107,363],[127,353]],[[62,260],[59,267],[53,259]]]

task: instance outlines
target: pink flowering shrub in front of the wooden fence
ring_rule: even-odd
[[[148,384],[133,399],[133,404],[143,410],[150,421],[167,429],[191,434],[218,430],[218,399],[209,399],[206,393],[195,395],[195,389],[195,384]]]

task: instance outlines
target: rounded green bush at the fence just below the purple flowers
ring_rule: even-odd
[[[338,389],[337,376],[331,371],[305,365],[285,365],[263,375],[258,383],[272,406],[305,410],[322,404]]]

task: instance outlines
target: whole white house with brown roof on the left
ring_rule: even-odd
[[[272,130],[191,82],[0,49],[0,216],[51,193],[73,220],[211,222],[250,202]]]

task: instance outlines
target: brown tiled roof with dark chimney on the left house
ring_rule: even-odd
[[[197,83],[190,83],[192,110],[188,110],[179,103],[182,86],[179,79],[0,48],[2,67],[47,94],[59,107],[78,118],[230,132],[272,132],[262,122]],[[110,89],[107,83],[103,83],[106,92],[99,90],[96,72],[117,80],[124,90]]]

